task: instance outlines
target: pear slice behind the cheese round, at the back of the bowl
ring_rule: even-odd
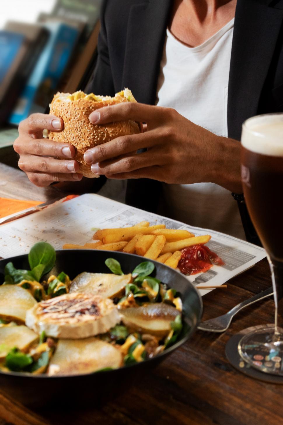
[[[72,281],[70,292],[113,298],[122,295],[125,286],[130,282],[132,282],[131,273],[129,275],[113,275],[83,272]]]

